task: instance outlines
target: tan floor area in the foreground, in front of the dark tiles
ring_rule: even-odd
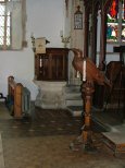
[[[98,144],[95,154],[72,151],[75,135],[11,137],[3,140],[5,168],[125,168],[124,159]]]

